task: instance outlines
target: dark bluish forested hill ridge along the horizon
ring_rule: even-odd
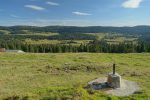
[[[22,30],[29,30],[32,32],[57,32],[57,33],[98,33],[98,32],[115,32],[124,34],[150,34],[150,26],[134,26],[134,27],[105,27],[105,26],[89,26],[89,27],[76,27],[76,26],[0,26],[0,30],[9,31],[11,34],[17,34]]]

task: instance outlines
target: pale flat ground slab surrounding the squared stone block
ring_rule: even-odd
[[[107,86],[106,82],[107,82],[107,78],[98,78],[91,82],[88,82],[88,84],[94,90],[102,90],[107,94],[111,94],[115,96],[128,96],[140,89],[136,82],[128,81],[124,79],[122,79],[121,88],[116,88],[116,89]]]

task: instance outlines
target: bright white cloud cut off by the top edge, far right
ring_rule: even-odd
[[[138,8],[143,0],[126,0],[122,7],[124,8]]]

